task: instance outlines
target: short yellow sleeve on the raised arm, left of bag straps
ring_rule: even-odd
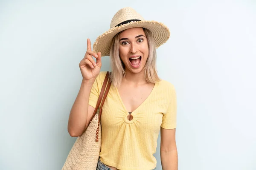
[[[100,94],[106,74],[107,72],[100,72],[98,77],[95,79],[93,83],[93,87],[91,89],[90,97],[89,97],[89,105],[91,105],[93,108],[96,107],[96,104],[98,102],[99,94]]]

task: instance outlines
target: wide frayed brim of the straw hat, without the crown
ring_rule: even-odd
[[[135,27],[142,27],[148,29],[153,36],[156,48],[158,48],[160,45],[163,45],[170,37],[169,28],[163,23],[159,23],[157,21],[134,21],[118,27],[111,28],[102,35],[100,35],[93,43],[93,51],[96,53],[101,52],[102,57],[109,56],[111,41],[113,37],[125,29]]]

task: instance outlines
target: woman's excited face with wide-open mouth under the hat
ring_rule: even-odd
[[[143,28],[129,28],[119,34],[119,57],[126,72],[143,70],[148,59],[148,40]]]

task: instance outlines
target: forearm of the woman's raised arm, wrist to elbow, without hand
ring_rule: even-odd
[[[88,103],[93,82],[82,81],[79,93],[71,108],[67,130],[70,136],[80,136],[87,122]]]

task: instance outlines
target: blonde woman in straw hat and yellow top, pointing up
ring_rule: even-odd
[[[106,75],[100,72],[101,56],[110,56],[112,84],[101,117],[98,170],[154,169],[159,131],[162,168],[177,170],[175,88],[156,71],[156,48],[169,34],[163,24],[122,8],[114,15],[111,29],[96,39],[93,51],[87,39],[79,64],[83,79],[70,111],[68,132],[81,136],[88,126]]]

